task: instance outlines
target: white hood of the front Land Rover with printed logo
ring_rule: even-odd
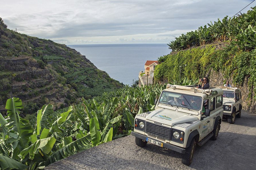
[[[177,111],[156,109],[146,117],[146,120],[173,126],[175,124],[197,121],[198,118],[196,116]]]

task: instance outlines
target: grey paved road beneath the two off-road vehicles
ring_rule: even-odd
[[[242,112],[235,124],[221,123],[219,137],[197,146],[193,163],[182,154],[155,145],[135,145],[128,136],[62,159],[45,169],[256,169],[256,114]]]

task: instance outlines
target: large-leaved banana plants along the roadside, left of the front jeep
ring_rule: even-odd
[[[154,109],[165,85],[126,86],[90,100],[82,99],[61,113],[44,105],[36,117],[22,118],[22,101],[6,101],[0,113],[1,169],[43,169],[101,143],[129,135],[137,113]]]

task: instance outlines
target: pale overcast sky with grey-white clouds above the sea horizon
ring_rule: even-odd
[[[181,33],[232,17],[253,0],[4,0],[11,30],[56,43],[167,44]],[[256,6],[256,1],[242,13]]]

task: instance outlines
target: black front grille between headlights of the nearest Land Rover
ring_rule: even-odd
[[[158,138],[171,140],[172,129],[162,125],[146,122],[145,132]]]

